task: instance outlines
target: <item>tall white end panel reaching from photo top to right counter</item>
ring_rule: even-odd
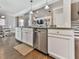
[[[71,28],[71,1],[72,0],[63,0],[63,14],[67,28]]]

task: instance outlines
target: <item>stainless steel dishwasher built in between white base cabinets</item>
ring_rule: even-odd
[[[34,30],[34,48],[47,54],[47,29],[35,29]]]

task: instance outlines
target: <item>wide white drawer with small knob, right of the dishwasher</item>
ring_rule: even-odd
[[[62,30],[62,29],[48,29],[48,34],[60,34],[60,35],[74,35],[73,30]]]

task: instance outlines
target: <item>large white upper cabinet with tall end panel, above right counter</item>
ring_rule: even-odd
[[[71,0],[61,0],[61,4],[53,8],[53,25],[59,28],[71,28]]]

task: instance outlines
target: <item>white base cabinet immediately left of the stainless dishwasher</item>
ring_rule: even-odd
[[[32,28],[23,28],[22,41],[28,45],[33,46],[33,29]]]

